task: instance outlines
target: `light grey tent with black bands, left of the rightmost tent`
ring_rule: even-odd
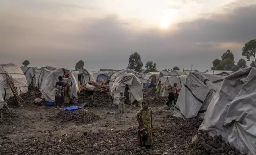
[[[180,90],[174,116],[183,119],[203,117],[223,79],[222,76],[190,72]]]

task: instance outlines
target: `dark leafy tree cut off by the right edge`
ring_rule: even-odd
[[[242,48],[242,56],[246,56],[247,61],[250,61],[250,58],[254,59],[256,62],[256,39],[250,40],[248,43],[244,45]]]

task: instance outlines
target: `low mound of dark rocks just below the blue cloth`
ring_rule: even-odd
[[[50,117],[50,120],[60,120],[61,122],[72,121],[78,124],[92,123],[99,119],[99,115],[86,109],[76,111],[60,111],[55,116]]]

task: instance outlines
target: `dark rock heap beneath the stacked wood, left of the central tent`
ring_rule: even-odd
[[[116,108],[116,105],[113,104],[112,96],[109,93],[101,93],[99,91],[80,92],[78,102],[85,104],[85,107]]]

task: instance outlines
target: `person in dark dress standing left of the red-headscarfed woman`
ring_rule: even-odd
[[[61,110],[61,106],[62,103],[64,102],[64,87],[65,87],[65,83],[62,81],[62,76],[58,77],[59,81],[56,82],[55,85],[55,109],[57,109],[57,107],[60,107]]]

